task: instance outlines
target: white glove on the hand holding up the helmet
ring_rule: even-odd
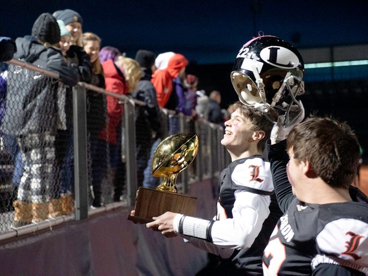
[[[287,113],[289,116],[288,122],[291,122],[291,124],[287,124],[287,120],[285,115],[280,115],[277,118],[277,123],[272,127],[271,131],[271,144],[276,144],[277,142],[280,142],[282,140],[285,140],[288,136],[290,130],[297,124],[299,124],[304,119],[304,106],[302,102],[299,100],[299,104],[296,105],[296,108],[292,111],[290,114]]]

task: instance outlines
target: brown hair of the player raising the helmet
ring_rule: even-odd
[[[291,129],[287,150],[298,161],[307,161],[315,174],[334,188],[345,188],[354,181],[360,148],[358,138],[345,122],[311,116]]]

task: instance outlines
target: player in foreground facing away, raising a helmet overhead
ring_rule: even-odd
[[[308,118],[290,132],[283,119],[267,151],[285,214],[264,250],[264,275],[368,275],[368,199],[351,186],[357,137],[331,118]]]

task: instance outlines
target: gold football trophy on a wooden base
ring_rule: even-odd
[[[181,195],[176,188],[176,179],[195,158],[198,151],[198,136],[194,133],[179,133],[167,137],[155,150],[151,171],[156,177],[163,177],[157,189],[139,187],[135,201],[134,216],[128,220],[134,223],[152,222],[170,211],[194,215],[197,198]]]

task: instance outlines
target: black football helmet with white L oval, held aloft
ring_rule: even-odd
[[[288,42],[265,35],[248,41],[239,50],[231,82],[243,104],[263,112],[271,106],[289,115],[300,107],[295,97],[304,94],[303,74],[300,53]]]

